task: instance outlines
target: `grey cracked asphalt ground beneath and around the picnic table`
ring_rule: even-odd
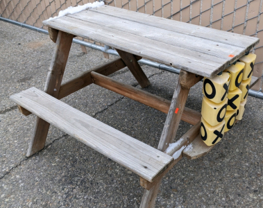
[[[48,35],[0,21],[0,207],[139,207],[139,177],[51,127],[46,146],[26,157],[35,116],[23,116],[9,96],[44,88],[54,44]],[[64,80],[103,62],[99,51],[73,44]],[[110,56],[110,59],[114,57]],[[147,66],[147,92],[171,100],[178,76]],[[110,77],[139,87],[128,69]],[[202,85],[187,107],[201,110]],[[99,86],[62,101],[113,128],[158,146],[166,114]],[[179,138],[191,125],[181,122]],[[248,97],[244,119],[204,157],[183,158],[162,180],[156,207],[263,207],[263,101]]]

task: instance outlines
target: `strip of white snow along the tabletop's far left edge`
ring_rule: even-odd
[[[63,17],[65,15],[68,15],[68,14],[75,14],[75,13],[78,13],[78,12],[81,12],[83,10],[86,10],[87,8],[96,8],[96,7],[99,7],[99,6],[103,6],[104,5],[104,2],[101,1],[95,1],[93,3],[86,3],[82,6],[78,5],[78,6],[69,6],[68,8],[66,8],[65,10],[61,10],[59,13],[58,13],[58,17]],[[48,19],[49,20],[53,20],[53,19],[57,19],[58,17],[50,17]]]

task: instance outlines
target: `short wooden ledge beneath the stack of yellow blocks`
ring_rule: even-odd
[[[198,135],[196,139],[194,139],[191,145],[192,148],[183,150],[183,157],[187,157],[188,159],[196,159],[198,157],[203,157],[207,153],[209,153],[210,150],[212,150],[212,148],[215,146],[206,146],[205,142],[203,142],[200,135]]]

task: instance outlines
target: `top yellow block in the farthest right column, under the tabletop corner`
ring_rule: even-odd
[[[243,57],[239,58],[239,61],[245,64],[244,75],[242,78],[243,80],[251,78],[255,64],[255,58],[257,58],[257,55],[253,53],[249,53],[248,55],[244,55]]]

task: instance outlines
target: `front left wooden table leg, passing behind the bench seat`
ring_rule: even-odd
[[[53,53],[49,73],[46,78],[46,85],[44,87],[44,92],[55,98],[58,97],[73,37],[74,35],[70,35],[62,31],[58,32],[56,49]],[[29,157],[44,148],[48,131],[49,123],[37,117],[33,137],[31,139],[31,143],[29,144],[26,156]]]

